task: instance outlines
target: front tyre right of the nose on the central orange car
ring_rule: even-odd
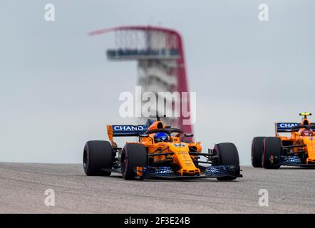
[[[237,147],[231,142],[215,145],[214,153],[219,155],[218,165],[234,165],[239,167],[239,153]],[[217,177],[217,180],[235,180],[237,177]]]

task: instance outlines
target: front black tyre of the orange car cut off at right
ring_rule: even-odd
[[[277,137],[264,138],[264,150],[262,153],[262,167],[266,169],[279,169],[280,165],[274,165],[270,157],[279,156],[282,152],[281,140]]]

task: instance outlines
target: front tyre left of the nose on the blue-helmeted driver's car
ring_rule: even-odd
[[[148,152],[144,145],[126,144],[121,155],[121,174],[125,180],[134,180],[136,167],[148,166]]]

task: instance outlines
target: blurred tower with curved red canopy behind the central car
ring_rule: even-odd
[[[137,61],[138,62],[138,85],[141,86],[142,93],[150,91],[158,92],[189,92],[185,70],[185,56],[180,33],[169,28],[157,26],[120,26],[93,31],[91,36],[114,32],[115,48],[106,51],[106,55],[111,61]],[[188,96],[189,97],[189,96]],[[182,100],[182,99],[180,99]],[[192,125],[183,125],[181,110],[175,110],[180,105],[180,100],[172,99],[172,116],[167,116],[164,122],[175,128],[181,128],[185,133],[192,133]],[[165,100],[166,101],[166,100]],[[147,101],[145,101],[146,103]],[[158,102],[158,101],[157,101]],[[190,100],[187,102],[190,110]],[[156,105],[158,107],[158,104]],[[179,106],[181,107],[181,106]],[[153,115],[166,114],[159,110],[150,110]],[[175,117],[177,112],[180,116]],[[141,118],[138,122],[143,124],[148,118]]]

